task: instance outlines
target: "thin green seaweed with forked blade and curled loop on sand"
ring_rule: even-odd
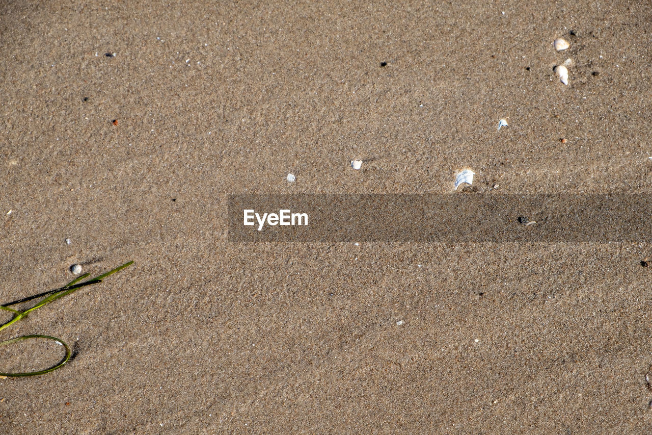
[[[106,272],[104,274],[101,274],[100,276],[96,276],[95,278],[93,278],[91,280],[80,283],[80,281],[82,281],[84,278],[86,278],[87,276],[90,275],[90,274],[83,274],[82,276],[80,276],[78,278],[75,278],[71,282],[67,283],[66,285],[64,285],[60,289],[55,289],[55,290],[52,290],[52,291],[46,291],[45,293],[40,293],[38,295],[34,295],[34,296],[31,296],[31,297],[16,300],[14,302],[10,302],[8,304],[4,304],[4,305],[0,306],[0,310],[5,310],[5,311],[8,311],[8,312],[12,312],[14,314],[14,317],[10,321],[8,321],[4,325],[0,326],[0,331],[5,329],[5,328],[10,327],[10,325],[13,325],[17,321],[19,321],[20,319],[25,317],[27,314],[37,310],[38,308],[41,308],[42,306],[45,306],[46,304],[49,304],[50,302],[53,302],[54,300],[57,300],[59,298],[63,298],[64,296],[70,295],[70,293],[74,293],[75,291],[78,291],[82,287],[86,287],[87,285],[100,283],[107,276],[109,276],[111,274],[114,274],[115,272],[118,272],[119,270],[122,270],[127,266],[131,266],[132,264],[134,264],[134,262],[130,261],[128,263],[125,263],[122,266],[118,266],[113,270],[110,270],[110,271],[108,271],[108,272]],[[27,309],[25,311],[18,311],[18,310],[14,310],[14,308],[9,308],[12,305],[21,304],[22,302],[27,302],[29,300],[37,299],[37,298],[40,298],[40,297],[43,297],[43,298],[41,300],[39,300],[35,306],[33,306],[32,308],[29,308],[29,309]],[[56,365],[54,365],[54,366],[52,366],[50,368],[46,368],[45,370],[38,370],[38,372],[24,372],[24,373],[1,373],[0,372],[0,376],[17,378],[19,376],[38,376],[38,375],[46,374],[46,373],[49,373],[49,372],[53,372],[54,370],[57,370],[57,368],[63,367],[66,364],[66,362],[68,362],[70,357],[72,356],[72,352],[70,351],[70,347],[68,346],[68,344],[66,344],[66,342],[61,340],[61,338],[56,338],[56,337],[52,337],[52,336],[49,336],[49,335],[38,335],[38,334],[23,335],[23,336],[16,337],[16,338],[10,338],[9,340],[3,340],[3,341],[0,342],[0,346],[5,346],[7,344],[20,342],[22,340],[29,340],[29,339],[32,339],[32,338],[46,338],[47,340],[54,340],[55,342],[61,344],[61,346],[65,347],[65,349],[66,349],[65,357],[63,357],[63,359],[61,361],[59,361]]]

